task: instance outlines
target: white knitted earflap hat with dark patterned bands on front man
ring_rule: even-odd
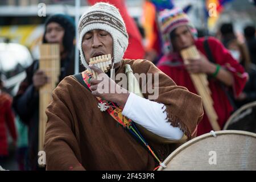
[[[128,46],[128,34],[125,22],[118,9],[109,3],[96,3],[81,16],[79,20],[79,49],[82,64],[88,68],[82,51],[82,38],[91,30],[105,30],[113,39],[114,63],[122,60]]]

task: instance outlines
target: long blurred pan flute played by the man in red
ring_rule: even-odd
[[[189,64],[188,59],[200,59],[200,54],[195,46],[183,49],[181,51],[181,56],[183,57],[185,64]],[[204,110],[208,116],[210,125],[214,131],[221,130],[217,122],[218,116],[213,108],[213,100],[208,86],[209,83],[207,80],[207,75],[205,73],[191,73],[190,77],[195,85],[197,93],[199,93],[199,95],[202,97]]]

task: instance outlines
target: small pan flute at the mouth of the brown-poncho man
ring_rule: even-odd
[[[98,68],[100,68],[104,73],[108,72],[112,65],[112,58],[111,55],[102,55],[97,57],[92,57],[89,60],[89,65],[94,65]],[[93,77],[97,78],[97,73],[91,70],[93,73]]]

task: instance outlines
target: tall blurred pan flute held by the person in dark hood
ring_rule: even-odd
[[[43,150],[44,134],[46,132],[46,107],[52,100],[52,90],[56,88],[60,76],[59,44],[42,44],[40,46],[39,69],[49,78],[47,84],[39,89],[39,143],[38,150]]]

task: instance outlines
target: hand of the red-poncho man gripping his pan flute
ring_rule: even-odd
[[[189,73],[207,73],[213,74],[216,71],[216,65],[210,61],[202,53],[200,59],[188,59],[189,64],[185,65]]]

